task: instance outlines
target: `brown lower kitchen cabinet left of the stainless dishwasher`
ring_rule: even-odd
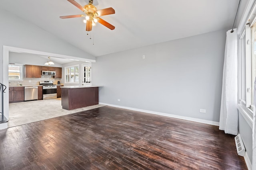
[[[9,103],[24,102],[24,87],[9,87]]]

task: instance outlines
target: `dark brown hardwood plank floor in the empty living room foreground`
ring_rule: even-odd
[[[247,168],[217,126],[104,106],[0,130],[0,170],[26,169]]]

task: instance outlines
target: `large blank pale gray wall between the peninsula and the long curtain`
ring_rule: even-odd
[[[222,30],[96,57],[99,102],[219,122],[225,41]]]

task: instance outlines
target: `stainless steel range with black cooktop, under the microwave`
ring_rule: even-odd
[[[43,85],[43,100],[57,98],[57,85],[53,81],[40,81],[39,84]]]

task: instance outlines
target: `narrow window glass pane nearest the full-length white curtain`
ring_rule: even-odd
[[[246,102],[245,35],[241,39],[241,99]]]

